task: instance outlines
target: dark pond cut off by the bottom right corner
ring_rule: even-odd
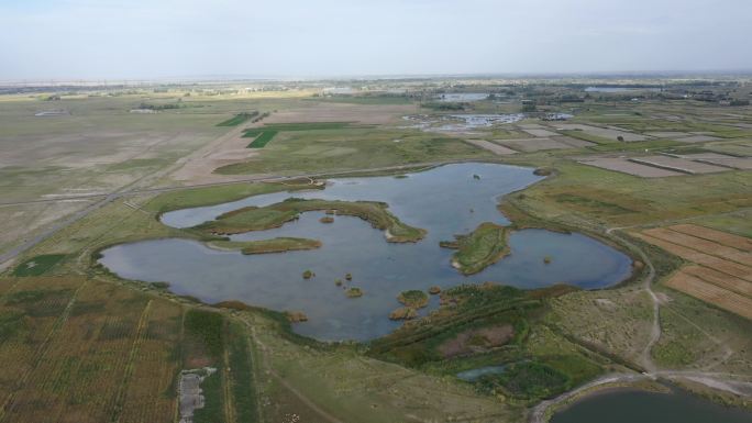
[[[554,414],[551,423],[750,423],[752,413],[712,403],[681,390],[597,393]]]

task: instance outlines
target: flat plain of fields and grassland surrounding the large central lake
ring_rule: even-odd
[[[0,185],[8,202],[0,207],[0,248],[11,251],[97,204],[33,243],[0,275],[0,357],[13,364],[0,371],[0,422],[176,421],[184,371],[204,375],[206,407],[195,410],[196,422],[517,422],[541,401],[604,375],[643,371],[677,382],[693,372],[711,380],[705,388],[720,386],[729,401],[749,407],[752,130],[743,125],[752,122],[751,109],[650,94],[638,102],[594,96],[572,105],[551,100],[579,92],[567,85],[505,85],[517,93],[502,94],[501,81],[465,82],[478,85],[467,92],[497,90],[504,101],[442,110],[434,88],[453,88],[439,79],[414,90],[411,82],[389,82],[405,84],[407,93],[398,96],[324,94],[313,84],[69,94],[55,103],[68,114],[45,116],[34,116],[49,108],[45,100],[0,96]],[[519,121],[441,127],[457,124],[451,114],[517,114],[528,98],[540,100],[538,111]],[[139,111],[142,103],[153,112]],[[573,116],[548,120],[555,112]],[[428,121],[438,123],[416,125]],[[334,220],[327,229],[338,227],[339,215],[354,215],[387,241],[425,242],[425,231],[400,221],[399,204],[374,201],[294,199],[184,229],[159,218],[255,194],[325,193],[325,175],[409,178],[402,174],[413,166],[465,160],[549,176],[499,199],[510,226],[476,223],[455,241],[449,235],[444,246],[457,251],[445,252],[442,266],[456,274],[450,267],[456,253],[461,272],[479,274],[520,256],[508,246],[515,230],[544,227],[584,233],[629,254],[633,277],[599,290],[519,290],[504,285],[511,280],[495,280],[442,286],[432,296],[405,291],[390,297],[395,309],[398,309],[403,325],[387,336],[325,343],[291,331],[306,323],[290,320],[302,322],[308,313],[202,303],[166,282],[124,279],[98,263],[107,247],[161,238],[193,240],[214,248],[211,254],[295,251],[286,255],[295,257],[322,245],[307,237],[225,236],[321,211]],[[484,182],[485,176],[477,180]],[[546,259],[556,264],[557,256],[528,266],[552,266]],[[222,287],[224,271],[218,268],[207,283]],[[374,289],[352,271],[354,281],[340,280],[340,292],[358,308]],[[321,279],[298,281],[336,283]],[[363,297],[345,298],[351,292]],[[457,377],[501,366],[508,371]]]

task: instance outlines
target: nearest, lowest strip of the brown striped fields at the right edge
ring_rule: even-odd
[[[666,286],[695,297],[723,310],[752,319],[752,300],[736,292],[708,283],[703,279],[678,271]]]

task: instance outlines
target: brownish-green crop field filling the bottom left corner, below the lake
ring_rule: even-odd
[[[246,337],[222,314],[207,319],[76,277],[3,279],[2,288],[0,357],[13,366],[0,370],[0,421],[173,421],[178,372],[201,366],[223,370],[212,376],[220,389],[207,386],[208,409],[233,415],[225,421],[256,421]],[[232,389],[230,401],[223,383]],[[215,415],[199,413],[195,421]]]

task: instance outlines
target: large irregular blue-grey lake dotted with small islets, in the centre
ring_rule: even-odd
[[[246,256],[193,241],[158,240],[113,246],[102,252],[100,261],[122,277],[166,281],[174,292],[207,302],[240,300],[274,310],[302,311],[310,320],[294,325],[294,330],[329,341],[365,341],[391,332],[399,323],[390,321],[388,314],[400,307],[397,296],[407,289],[484,281],[524,289],[560,282],[593,289],[629,277],[631,260],[624,254],[580,234],[543,230],[512,233],[511,255],[477,275],[465,277],[450,265],[454,252],[439,247],[440,241],[468,233],[483,222],[508,224],[496,208],[499,198],[540,179],[530,168],[456,164],[407,178],[332,179],[325,190],[255,196],[163,216],[165,224],[186,227],[230,210],[290,197],[385,201],[400,220],[428,230],[427,237],[414,244],[387,243],[384,232],[357,218],[336,216],[334,223],[322,224],[319,219],[323,213],[309,212],[283,227],[232,238],[317,238],[323,246],[314,251]],[[546,256],[552,263],[543,261]],[[306,269],[316,277],[303,280]],[[347,272],[353,274],[353,281],[345,286],[363,289],[362,298],[349,299],[343,288],[334,285]],[[433,297],[429,309],[436,305]]]

